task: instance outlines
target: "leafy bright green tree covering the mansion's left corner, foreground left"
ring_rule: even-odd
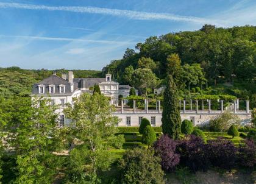
[[[13,106],[9,139],[16,158],[16,183],[52,183],[57,173],[56,107],[48,99],[20,98]]]

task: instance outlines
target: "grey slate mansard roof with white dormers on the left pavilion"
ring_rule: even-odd
[[[61,77],[52,75],[46,79],[41,80],[38,83],[35,83],[32,88],[32,94],[38,94],[38,85],[44,85],[44,93],[45,94],[49,93],[49,85],[51,85],[51,84],[55,85],[55,93],[54,94],[60,93],[59,85],[61,85],[61,84],[65,85],[65,94],[71,93],[71,84],[67,80],[62,79]]]

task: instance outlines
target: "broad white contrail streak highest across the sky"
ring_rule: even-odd
[[[138,12],[133,10],[105,9],[105,8],[87,7],[87,6],[48,6],[48,5],[0,2],[0,8],[94,13],[94,14],[102,14],[102,15],[123,16],[130,19],[141,19],[141,20],[163,19],[163,20],[169,20],[169,21],[185,21],[185,22],[193,22],[193,23],[199,23],[199,24],[207,24],[207,23],[218,24],[218,21],[216,20],[199,18],[195,16],[181,16],[181,15],[174,15],[171,13]]]

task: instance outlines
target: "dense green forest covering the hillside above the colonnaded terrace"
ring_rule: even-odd
[[[256,107],[256,27],[216,28],[149,37],[123,58],[102,69],[119,83],[136,88],[166,84],[166,75],[177,75],[177,86],[185,94],[191,89],[212,88],[212,94],[231,94],[250,99]],[[179,74],[174,74],[179,71]]]

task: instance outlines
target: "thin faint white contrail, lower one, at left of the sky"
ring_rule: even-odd
[[[90,40],[83,38],[62,38],[62,37],[37,37],[37,36],[24,36],[24,35],[0,35],[0,37],[10,37],[10,38],[25,38],[34,40],[49,40],[49,41],[77,41],[77,42],[88,42],[88,43],[121,43],[121,44],[131,44],[130,41],[110,41],[110,40]],[[135,42],[133,43],[135,44]]]

